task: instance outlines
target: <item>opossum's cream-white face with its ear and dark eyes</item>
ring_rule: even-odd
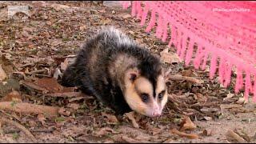
[[[126,74],[126,90],[124,97],[130,108],[139,114],[157,117],[167,102],[166,82],[162,75],[153,84],[145,77],[131,70]]]

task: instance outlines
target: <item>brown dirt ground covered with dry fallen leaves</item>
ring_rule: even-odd
[[[8,6],[15,5],[28,6],[28,14],[8,16]],[[160,118],[116,117],[93,97],[58,85],[82,43],[106,25],[158,54],[170,77],[200,82],[168,79],[169,102]],[[234,94],[235,74],[225,88],[218,77],[209,79],[209,69],[184,67],[173,47],[163,57],[167,43],[145,29],[130,9],[102,2],[0,2],[0,142],[256,142],[256,104]],[[41,111],[49,106],[52,113],[38,114],[35,105]],[[182,130],[186,124],[190,128]],[[174,134],[174,129],[189,135]]]

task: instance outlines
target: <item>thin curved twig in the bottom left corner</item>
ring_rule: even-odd
[[[0,122],[9,123],[11,125],[16,126],[18,129],[22,130],[28,137],[30,137],[33,142],[37,142],[36,138],[34,138],[34,135],[30,133],[30,130],[27,130],[26,127],[22,126],[18,122],[14,122],[14,121],[12,121],[10,119],[6,119],[6,118],[0,118]]]

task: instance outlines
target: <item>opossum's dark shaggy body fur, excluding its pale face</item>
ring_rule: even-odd
[[[117,113],[130,111],[122,90],[127,69],[138,67],[155,86],[161,73],[158,58],[114,27],[106,27],[82,46],[76,61],[62,77],[63,86],[78,86]]]

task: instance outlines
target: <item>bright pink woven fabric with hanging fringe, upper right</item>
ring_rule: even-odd
[[[122,4],[126,9],[130,2]],[[150,18],[146,32],[156,26],[157,38],[170,38],[186,66],[193,62],[204,70],[210,61],[210,78],[218,70],[223,86],[235,71],[235,92],[244,88],[245,98],[254,94],[256,102],[256,2],[133,1],[131,6],[142,26]]]

